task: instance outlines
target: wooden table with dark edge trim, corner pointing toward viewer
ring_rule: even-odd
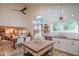
[[[49,40],[32,40],[22,43],[24,52],[27,51],[33,56],[42,56],[49,50],[53,55],[53,45],[54,42]]]

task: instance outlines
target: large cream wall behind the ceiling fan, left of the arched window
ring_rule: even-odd
[[[29,27],[28,14],[24,15],[19,11],[13,10],[13,9],[20,10],[25,6],[26,5],[22,3],[0,4],[0,25],[25,27],[29,30],[30,27]],[[27,13],[28,9],[25,12]]]

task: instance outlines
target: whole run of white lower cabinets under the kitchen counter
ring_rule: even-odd
[[[58,49],[73,55],[79,55],[79,41],[62,39],[62,38],[53,38],[53,41],[55,42],[54,44],[55,49]]]

